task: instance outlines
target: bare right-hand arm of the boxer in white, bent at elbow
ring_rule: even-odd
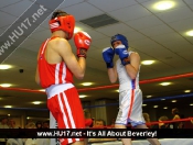
[[[132,53],[129,57],[130,57],[130,64],[125,66],[126,71],[131,79],[136,79],[140,66],[140,56],[138,53]]]

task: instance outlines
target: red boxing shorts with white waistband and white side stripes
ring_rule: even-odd
[[[85,119],[78,92],[72,83],[53,85],[46,89],[47,108],[58,129],[85,129]],[[67,145],[83,138],[61,138]]]

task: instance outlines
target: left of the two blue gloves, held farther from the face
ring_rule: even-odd
[[[114,62],[112,62],[114,55],[115,55],[115,51],[111,47],[107,47],[103,49],[103,57],[107,64],[107,68],[114,67]]]

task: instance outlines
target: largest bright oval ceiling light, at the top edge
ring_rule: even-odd
[[[172,7],[174,7],[174,2],[173,1],[160,1],[158,3],[156,3],[153,7],[157,10],[168,10],[171,9]]]

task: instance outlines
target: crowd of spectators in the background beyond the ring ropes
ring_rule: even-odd
[[[103,119],[92,119],[92,115],[88,110],[84,110],[85,120],[88,120],[87,127],[89,129],[115,129],[116,119],[111,119],[110,124],[107,124]],[[184,119],[184,115],[174,108],[171,111],[172,119],[169,119],[167,115],[162,115],[158,119],[158,123],[151,122],[149,113],[144,112],[143,118],[146,120],[147,126],[149,129],[193,129],[193,120],[181,121]],[[171,121],[175,122],[171,122]],[[169,122],[165,122],[169,121]],[[154,122],[154,121],[153,121]],[[0,129],[21,129],[18,126],[13,119],[1,118]],[[50,121],[28,121],[24,129],[50,129]],[[128,129],[130,125],[128,124]],[[105,141],[115,141],[117,138],[88,138],[87,142],[105,142]],[[0,145],[47,145],[50,144],[49,138],[0,138]]]

